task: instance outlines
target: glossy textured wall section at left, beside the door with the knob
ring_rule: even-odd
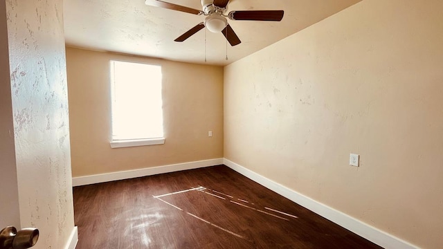
[[[35,249],[64,248],[74,229],[62,10],[6,1],[20,222],[39,228]]]

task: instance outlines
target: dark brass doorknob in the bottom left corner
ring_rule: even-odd
[[[3,228],[0,232],[0,249],[26,249],[37,243],[39,230],[37,228],[24,228],[17,232],[13,226]]]

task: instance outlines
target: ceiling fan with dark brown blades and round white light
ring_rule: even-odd
[[[170,10],[177,10],[187,12],[194,15],[204,15],[205,20],[194,28],[191,28],[186,33],[175,39],[175,42],[183,42],[202,28],[207,28],[213,33],[223,33],[231,46],[241,43],[239,37],[235,34],[233,28],[228,24],[228,20],[246,20],[246,21],[281,21],[283,19],[283,10],[235,10],[226,15],[226,6],[229,0],[201,0],[202,10],[188,8],[186,6],[179,6],[174,3],[167,3],[161,0],[146,0],[146,5],[167,8]]]

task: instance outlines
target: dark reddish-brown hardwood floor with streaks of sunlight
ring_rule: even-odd
[[[380,248],[226,166],[74,187],[77,249]]]

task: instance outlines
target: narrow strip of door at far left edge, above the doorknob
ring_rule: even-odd
[[[6,2],[0,1],[0,230],[20,226],[17,167],[15,167]]]

